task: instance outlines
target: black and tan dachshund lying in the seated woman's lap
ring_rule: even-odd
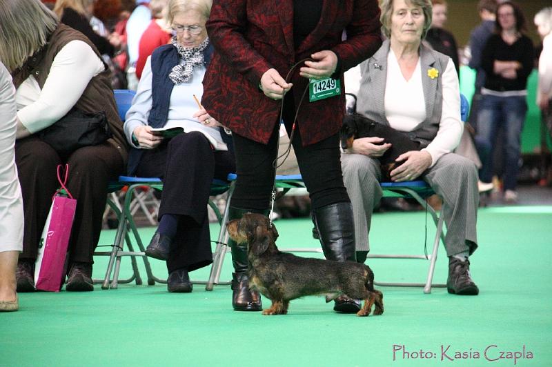
[[[378,158],[382,165],[384,181],[391,181],[389,173],[400,166],[395,161],[397,157],[411,150],[420,150],[420,142],[411,140],[404,132],[377,123],[362,115],[346,115],[343,119],[343,126],[339,131],[342,148],[351,148],[353,141],[362,137],[380,137],[384,139],[384,143],[391,143],[391,148],[386,150],[382,157]]]

